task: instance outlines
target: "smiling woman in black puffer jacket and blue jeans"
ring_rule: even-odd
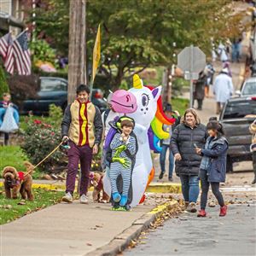
[[[172,153],[176,160],[175,172],[180,177],[185,207],[189,212],[196,212],[195,204],[199,195],[201,155],[196,154],[195,144],[203,148],[207,137],[207,127],[201,124],[195,109],[189,108],[171,138]]]

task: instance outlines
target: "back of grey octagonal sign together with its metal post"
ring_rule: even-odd
[[[190,108],[193,107],[193,80],[198,79],[198,75],[206,67],[206,55],[198,47],[190,45],[185,47],[177,55],[177,67],[181,68],[184,77],[190,80]]]

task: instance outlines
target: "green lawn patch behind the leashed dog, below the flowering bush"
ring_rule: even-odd
[[[0,147],[0,172],[5,166],[14,166],[18,172],[26,172],[23,162],[28,160],[20,146],[4,146]],[[2,174],[2,173],[1,173]],[[42,172],[34,171],[32,177],[37,179],[42,176]]]

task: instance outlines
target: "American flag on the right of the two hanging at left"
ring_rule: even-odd
[[[27,32],[21,32],[13,44],[13,55],[15,58],[15,66],[19,75],[31,74],[30,50],[27,42]]]

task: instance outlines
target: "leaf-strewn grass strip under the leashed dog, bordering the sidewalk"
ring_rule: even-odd
[[[63,192],[45,189],[33,189],[34,201],[6,199],[4,188],[0,188],[0,224],[6,224],[31,212],[37,212],[45,207],[61,201]],[[20,195],[19,195],[20,196]],[[19,205],[20,203],[20,205]]]

